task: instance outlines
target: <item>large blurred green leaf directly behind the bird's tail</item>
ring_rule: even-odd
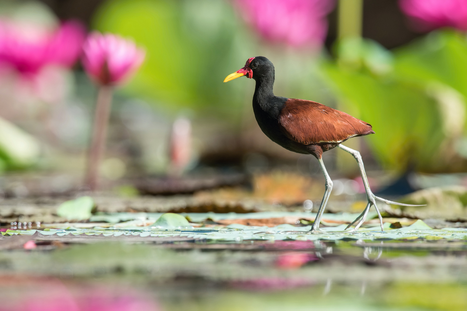
[[[323,66],[346,112],[373,125],[366,139],[379,162],[402,171],[410,163],[430,167],[444,138],[435,100],[425,90],[370,73]]]

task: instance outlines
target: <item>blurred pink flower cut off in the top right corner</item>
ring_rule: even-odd
[[[465,0],[399,0],[399,7],[411,18],[419,31],[440,27],[467,30]]]

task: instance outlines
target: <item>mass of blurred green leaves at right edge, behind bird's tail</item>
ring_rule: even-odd
[[[456,158],[465,168],[454,150],[466,128],[463,36],[435,32],[394,52],[347,39],[336,52],[336,62],[321,67],[325,78],[348,111],[373,125],[368,142],[383,167],[443,171]]]

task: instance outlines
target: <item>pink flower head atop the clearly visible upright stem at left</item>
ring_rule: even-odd
[[[142,64],[144,50],[118,35],[93,32],[83,47],[87,74],[102,85],[119,84]]]

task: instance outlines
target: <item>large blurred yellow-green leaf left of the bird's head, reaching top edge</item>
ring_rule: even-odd
[[[248,38],[238,41],[237,21],[227,2],[110,0],[100,7],[94,25],[146,48],[147,59],[129,88],[133,92],[169,111],[239,111],[241,83],[222,81],[250,56],[243,51]]]

